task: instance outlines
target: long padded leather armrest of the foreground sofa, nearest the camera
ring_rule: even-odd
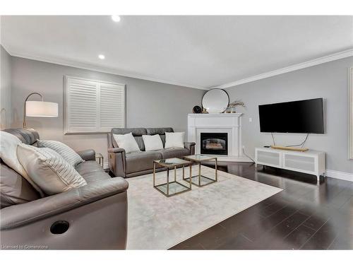
[[[1,209],[1,230],[16,228],[59,213],[125,192],[128,182],[121,177],[92,182],[68,192]]]

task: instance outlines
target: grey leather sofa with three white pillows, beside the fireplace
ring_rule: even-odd
[[[159,134],[164,146],[165,133],[174,132],[172,128],[113,128],[108,134],[108,163],[109,170],[119,177],[135,177],[153,171],[153,160],[166,158],[181,158],[185,155],[195,153],[195,143],[184,143],[184,148],[170,148],[160,151],[145,151],[143,135]],[[114,140],[113,134],[129,134],[138,143],[140,153],[125,153],[123,148],[119,148]],[[157,168],[156,171],[163,170]]]

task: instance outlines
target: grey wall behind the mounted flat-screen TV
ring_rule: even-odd
[[[348,87],[349,67],[353,57],[318,66],[284,73],[228,88],[229,98],[243,100],[242,140],[247,153],[254,148],[272,144],[270,134],[260,133],[258,105],[309,98],[325,99],[325,134],[311,134],[306,147],[326,152],[326,168],[353,172],[353,160],[348,159]],[[249,118],[253,122],[249,122]],[[275,134],[277,145],[301,143],[304,134]]]

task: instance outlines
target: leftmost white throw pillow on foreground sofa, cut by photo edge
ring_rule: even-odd
[[[0,158],[4,161],[8,167],[18,172],[22,177],[24,177],[30,184],[40,193],[40,196],[44,197],[44,194],[40,187],[38,187],[35,182],[30,179],[27,172],[20,164],[17,157],[17,146],[22,142],[13,134],[9,134],[6,131],[0,131]]]

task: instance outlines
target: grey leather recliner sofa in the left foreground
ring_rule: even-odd
[[[5,131],[27,144],[35,145],[39,139],[37,132],[30,129]],[[104,172],[95,162],[95,151],[78,154],[85,162],[76,170],[88,184],[44,198],[1,161],[3,249],[126,248],[128,182]]]

